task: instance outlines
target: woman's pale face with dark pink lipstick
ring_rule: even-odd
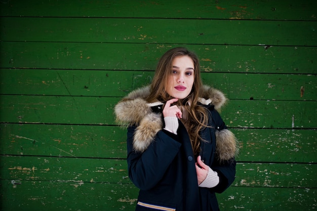
[[[166,92],[174,98],[184,99],[194,83],[194,63],[189,56],[175,57]]]

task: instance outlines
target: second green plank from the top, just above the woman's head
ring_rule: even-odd
[[[2,41],[317,45],[316,21],[3,17],[1,27]]]

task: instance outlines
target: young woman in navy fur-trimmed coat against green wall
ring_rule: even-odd
[[[115,106],[128,126],[128,170],[136,210],[219,210],[215,193],[234,181],[236,139],[217,110],[226,98],[203,86],[197,56],[167,51],[152,83]]]

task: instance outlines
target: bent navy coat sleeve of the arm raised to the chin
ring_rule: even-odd
[[[153,188],[163,178],[166,170],[178,153],[181,143],[177,136],[160,130],[143,152],[133,149],[133,134],[136,126],[130,126],[127,133],[129,178],[141,190]]]

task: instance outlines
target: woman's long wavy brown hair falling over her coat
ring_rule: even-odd
[[[189,56],[194,64],[194,83],[191,92],[184,99],[179,99],[176,103],[182,109],[182,123],[185,125],[189,137],[192,140],[194,154],[200,151],[200,130],[207,126],[208,116],[205,108],[197,105],[198,98],[202,96],[203,83],[201,79],[200,63],[198,57],[188,51],[186,48],[173,48],[167,51],[157,64],[156,71],[150,86],[150,94],[147,97],[148,102],[157,100],[166,102],[171,99],[165,87],[169,76],[172,74],[173,60],[175,57]],[[184,118],[185,117],[185,118]]]

